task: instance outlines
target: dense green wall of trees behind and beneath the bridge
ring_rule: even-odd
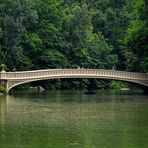
[[[0,0],[0,63],[8,71],[81,66],[147,72],[147,14],[147,0]],[[90,81],[49,83],[78,88]]]

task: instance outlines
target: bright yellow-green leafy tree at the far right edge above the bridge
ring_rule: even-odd
[[[127,66],[131,71],[147,71],[148,57],[148,19],[146,12],[148,11],[147,1],[138,0],[133,5],[133,20],[130,21],[130,26],[127,29],[127,35],[124,42],[128,47],[124,53],[130,53],[133,56],[124,54],[127,61],[130,61]],[[132,60],[134,57],[134,60]],[[130,65],[130,66],[129,66]],[[132,66],[131,66],[132,65]]]

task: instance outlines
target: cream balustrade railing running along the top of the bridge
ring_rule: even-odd
[[[50,76],[113,76],[123,77],[130,79],[148,79],[146,73],[124,72],[116,70],[104,70],[104,69],[48,69],[48,70],[36,70],[36,71],[21,71],[21,72],[2,72],[0,73],[0,79],[29,79],[39,77]]]

